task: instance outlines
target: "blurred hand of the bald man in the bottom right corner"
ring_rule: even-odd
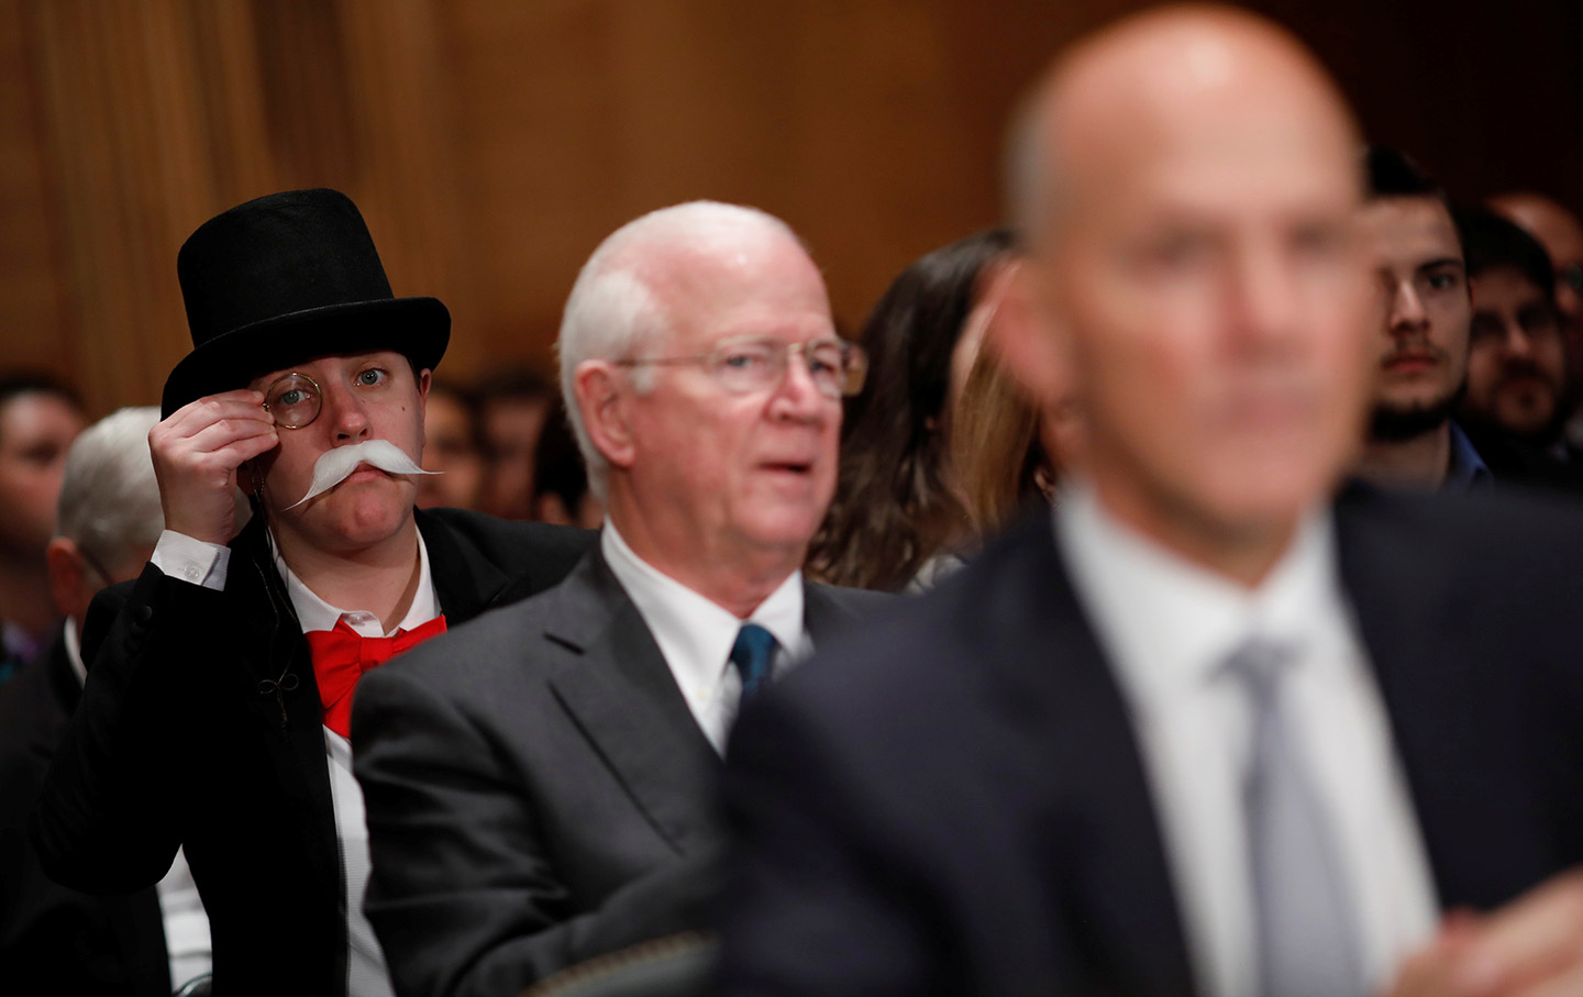
[[[1583,995],[1583,870],[1540,883],[1490,915],[1447,916],[1403,967],[1391,997]]]

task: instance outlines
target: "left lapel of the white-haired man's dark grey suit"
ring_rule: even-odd
[[[598,548],[546,598],[545,636],[571,652],[549,679],[562,706],[671,847],[712,840],[720,758]]]

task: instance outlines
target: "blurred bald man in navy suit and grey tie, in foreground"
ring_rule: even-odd
[[[727,992],[1577,984],[1583,527],[1331,498],[1377,366],[1357,149],[1247,13],[1056,63],[1000,345],[1046,402],[1070,370],[1084,457],[744,714]]]

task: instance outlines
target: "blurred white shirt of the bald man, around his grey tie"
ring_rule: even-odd
[[[1298,655],[1284,707],[1330,818],[1368,984],[1388,986],[1433,934],[1437,904],[1330,516],[1309,516],[1252,590],[1127,529],[1083,483],[1062,492],[1054,516],[1059,552],[1130,707],[1200,989],[1258,992],[1238,791],[1252,717],[1224,668],[1255,635]]]

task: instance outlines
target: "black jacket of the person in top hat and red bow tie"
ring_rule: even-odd
[[[418,513],[448,625],[565,576],[592,533]],[[92,662],[33,817],[70,886],[141,889],[185,845],[220,997],[345,992],[345,888],[307,641],[255,519],[223,592],[149,567],[89,611]]]

